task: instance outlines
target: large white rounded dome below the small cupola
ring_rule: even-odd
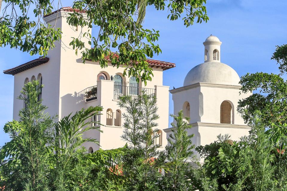
[[[240,78],[233,68],[221,62],[211,61],[204,62],[191,69],[184,79],[183,86],[196,84],[198,82],[240,85],[239,80]]]

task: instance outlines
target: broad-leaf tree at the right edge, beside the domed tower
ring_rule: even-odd
[[[242,92],[257,90],[238,104],[238,111],[246,122],[254,117],[256,111],[268,128],[267,132],[274,147],[284,153],[287,140],[287,45],[277,46],[273,60],[279,64],[279,74],[257,72],[242,76]],[[275,152],[276,153],[276,152]],[[281,158],[281,155],[279,156]]]

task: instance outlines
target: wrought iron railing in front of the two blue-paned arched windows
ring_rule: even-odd
[[[155,94],[155,89],[152,88],[114,85],[114,99],[119,99],[120,96],[125,95],[136,98],[138,95],[141,95],[143,91],[148,95]]]

